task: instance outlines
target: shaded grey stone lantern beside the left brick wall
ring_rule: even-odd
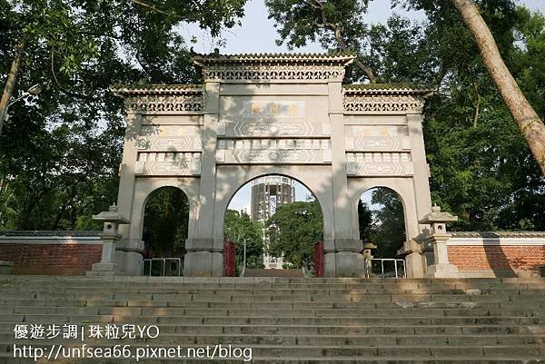
[[[100,237],[103,241],[102,258],[99,263],[93,264],[93,270],[87,271],[88,276],[113,276],[119,269],[119,264],[114,262],[115,258],[115,241],[121,239],[118,233],[119,225],[131,223],[124,219],[119,212],[115,203],[110,206],[107,212],[100,212],[98,215],[93,215],[93,220],[103,221],[104,228]]]

